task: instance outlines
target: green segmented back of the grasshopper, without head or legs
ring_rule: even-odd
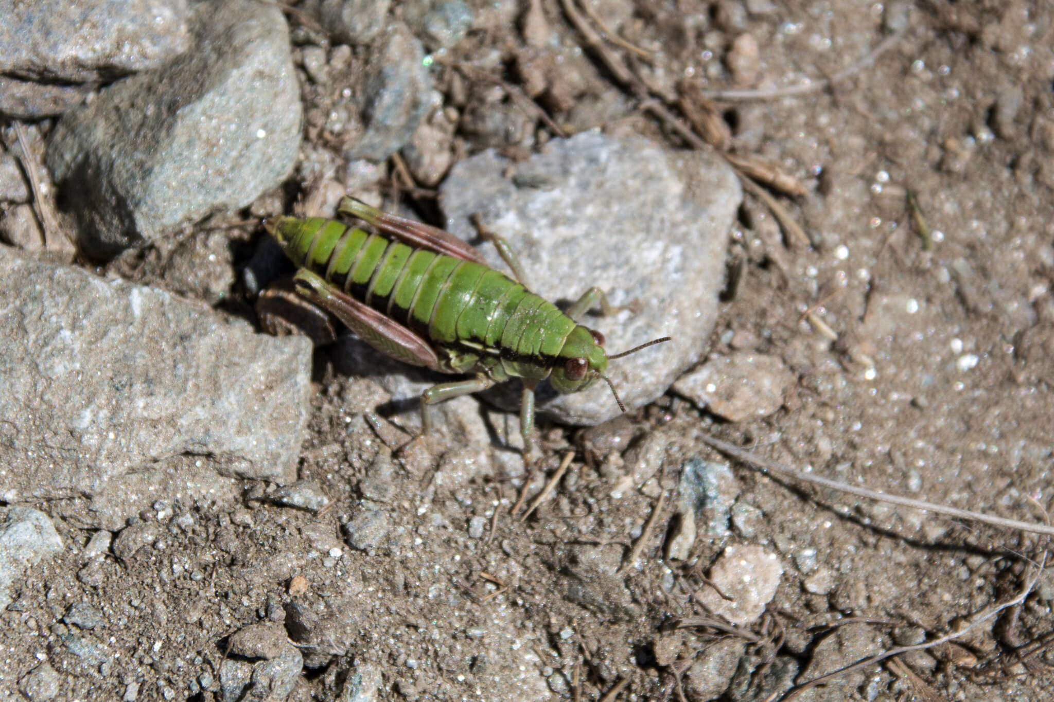
[[[437,345],[496,349],[509,372],[546,364],[574,322],[505,274],[321,218],[285,219],[286,253]]]

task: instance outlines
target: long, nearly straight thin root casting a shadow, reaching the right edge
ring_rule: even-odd
[[[847,483],[839,482],[837,480],[829,480],[828,478],[821,478],[820,476],[814,476],[808,473],[802,473],[800,470],[795,470],[788,466],[772,461],[763,456],[758,456],[752,452],[745,450],[730,444],[726,441],[721,441],[716,437],[711,437],[708,434],[700,433],[699,438],[703,440],[704,443],[714,446],[722,454],[731,456],[733,458],[739,459],[740,461],[746,463],[747,465],[754,466],[761,470],[767,470],[777,476],[784,478],[793,478],[795,480],[801,480],[807,483],[813,483],[814,485],[820,485],[822,487],[829,487],[842,493],[847,493],[848,495],[855,495],[857,497],[862,497],[868,500],[877,500],[879,502],[889,502],[891,504],[899,504],[904,507],[911,507],[913,509],[922,509],[924,512],[932,512],[938,515],[944,515],[946,517],[952,517],[953,519],[961,519],[968,522],[982,522],[984,524],[991,524],[993,526],[998,526],[1000,528],[1007,529],[1019,529],[1021,531],[1028,531],[1031,534],[1043,534],[1047,536],[1054,536],[1054,526],[1045,524],[1034,524],[1031,522],[1021,522],[1016,519],[1004,519],[1002,517],[995,517],[993,515],[985,515],[979,512],[971,512],[969,509],[959,509],[957,507],[950,507],[942,504],[935,504],[933,502],[925,502],[924,500],[915,500],[907,497],[901,497],[899,495],[892,495],[890,493],[879,493],[878,490],[868,489],[866,487],[857,487],[855,485],[850,485]]]

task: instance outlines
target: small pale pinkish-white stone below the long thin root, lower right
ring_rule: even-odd
[[[710,566],[709,579],[731,599],[707,586],[700,591],[699,601],[708,611],[745,626],[761,617],[782,577],[783,565],[775,554],[753,544],[728,546]]]

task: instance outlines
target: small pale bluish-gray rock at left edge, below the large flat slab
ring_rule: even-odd
[[[47,515],[31,507],[0,507],[0,611],[11,604],[11,586],[43,558],[60,550],[62,539]]]

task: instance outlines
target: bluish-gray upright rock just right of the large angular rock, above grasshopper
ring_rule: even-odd
[[[425,49],[405,24],[377,39],[363,79],[356,104],[366,128],[344,156],[379,162],[410,141],[432,105]]]

